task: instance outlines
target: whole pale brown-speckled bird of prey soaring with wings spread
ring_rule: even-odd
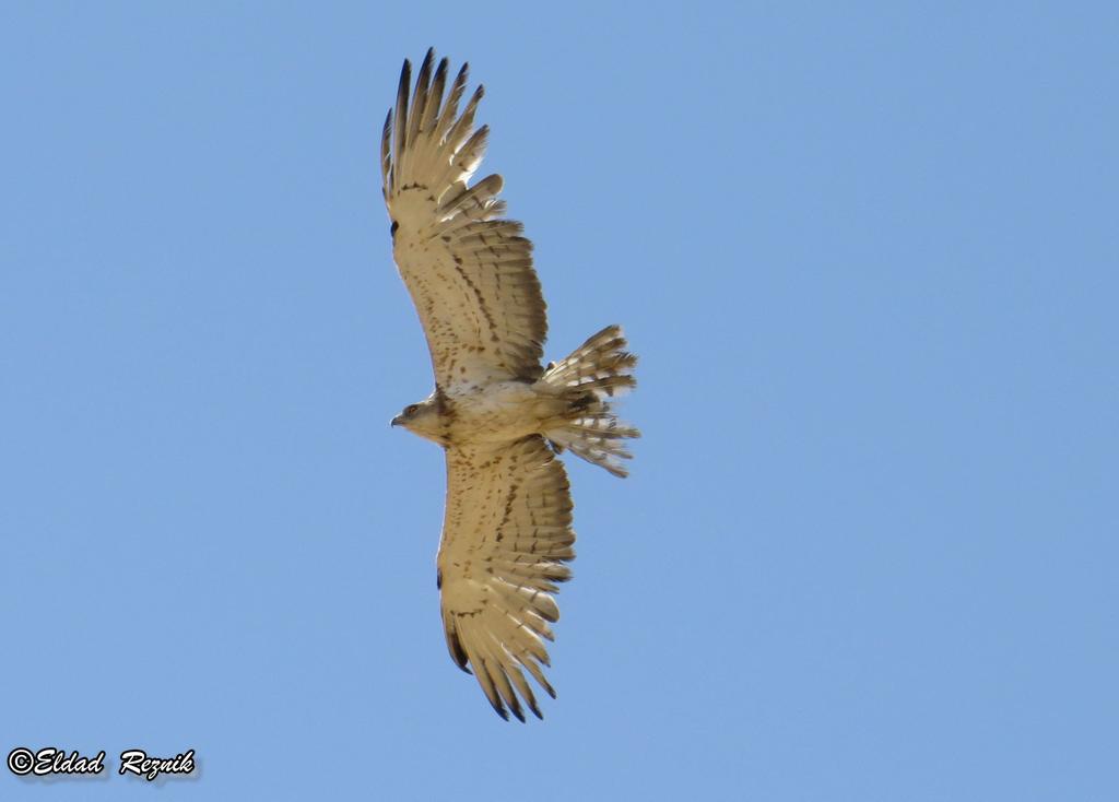
[[[401,72],[382,138],[393,256],[427,338],[435,389],[393,418],[446,456],[436,583],[446,645],[502,718],[521,702],[542,718],[525,672],[549,696],[544,641],[571,577],[572,501],[555,454],[571,450],[624,477],[626,440],[610,400],[636,385],[637,357],[610,325],[571,356],[540,365],[544,298],[521,224],[505,217],[501,177],[472,186],[488,128],[474,129],[482,87],[459,105],[468,65],[451,79],[429,50],[410,95]],[[448,84],[450,88],[448,88]]]

